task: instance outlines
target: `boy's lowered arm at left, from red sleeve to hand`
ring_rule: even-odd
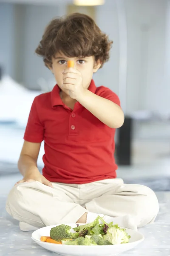
[[[40,122],[37,111],[37,99],[38,96],[34,99],[31,106],[24,134],[24,144],[18,160],[18,169],[23,175],[23,179],[19,180],[16,184],[37,180],[44,185],[53,187],[51,182],[41,175],[37,168],[37,159],[44,136],[44,127]]]

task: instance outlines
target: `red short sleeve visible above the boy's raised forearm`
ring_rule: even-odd
[[[116,103],[119,107],[121,107],[119,97],[116,93],[113,93],[113,91],[109,88],[101,86],[98,95],[105,99],[111,100],[112,102]]]

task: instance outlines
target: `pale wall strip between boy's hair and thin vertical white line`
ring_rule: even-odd
[[[96,23],[100,29],[113,40],[111,58],[99,70],[94,79],[96,84],[111,88],[115,93],[119,92],[119,29],[116,9],[116,1],[105,3],[105,6],[96,8]]]

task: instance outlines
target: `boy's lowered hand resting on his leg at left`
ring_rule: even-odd
[[[33,181],[39,181],[40,183],[46,185],[46,186],[50,186],[51,188],[53,188],[53,185],[51,184],[51,182],[49,180],[47,180],[44,176],[42,176],[41,174],[38,175],[26,175],[25,177],[23,177],[23,180],[19,180],[17,183],[15,183],[15,185],[19,184],[19,183],[24,183],[24,182],[33,182]]]

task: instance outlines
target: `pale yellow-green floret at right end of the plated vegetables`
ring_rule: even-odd
[[[129,242],[130,236],[127,235],[125,229],[114,225],[114,227],[108,228],[107,234],[103,236],[103,239],[108,240],[111,244],[126,244]]]

